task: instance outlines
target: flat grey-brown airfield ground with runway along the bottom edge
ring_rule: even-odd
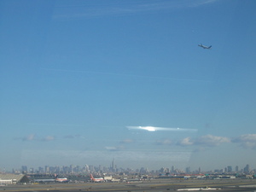
[[[174,180],[155,179],[143,183],[41,183],[1,186],[0,190],[10,192],[74,192],[74,191],[115,191],[115,192],[161,192],[177,189],[220,188],[218,191],[256,191],[256,179],[227,180]],[[212,191],[212,190],[211,190]]]

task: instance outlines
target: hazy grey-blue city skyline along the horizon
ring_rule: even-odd
[[[177,167],[175,165],[172,166],[160,166],[158,169],[152,169],[151,167],[120,167],[114,164],[114,161],[110,163],[110,166],[104,165],[69,165],[69,166],[20,166],[20,168],[12,168],[12,171],[5,170],[5,168],[1,169],[0,172],[13,172],[13,173],[73,173],[73,172],[84,172],[84,173],[111,173],[111,172],[170,172],[170,173],[206,173],[206,172],[215,172],[215,173],[256,173],[256,168],[251,167],[248,164],[244,166],[224,166],[224,167],[212,167],[210,170],[204,170],[201,166],[197,168],[190,166],[186,167]]]

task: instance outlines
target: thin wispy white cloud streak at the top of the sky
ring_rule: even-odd
[[[176,0],[176,1],[127,1],[126,3],[102,3],[97,5],[77,4],[72,6],[56,7],[58,13],[55,20],[73,20],[80,18],[102,17],[108,15],[135,15],[146,12],[172,11],[175,9],[195,8],[217,0]],[[65,11],[68,9],[68,12]],[[62,14],[64,13],[65,14]],[[68,13],[68,14],[67,14]]]

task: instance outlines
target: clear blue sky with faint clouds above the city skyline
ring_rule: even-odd
[[[256,168],[255,8],[1,1],[0,168]]]

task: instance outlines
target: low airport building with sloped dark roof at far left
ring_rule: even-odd
[[[1,174],[0,173],[0,184],[17,184],[17,183],[28,183],[29,179],[24,174]]]

